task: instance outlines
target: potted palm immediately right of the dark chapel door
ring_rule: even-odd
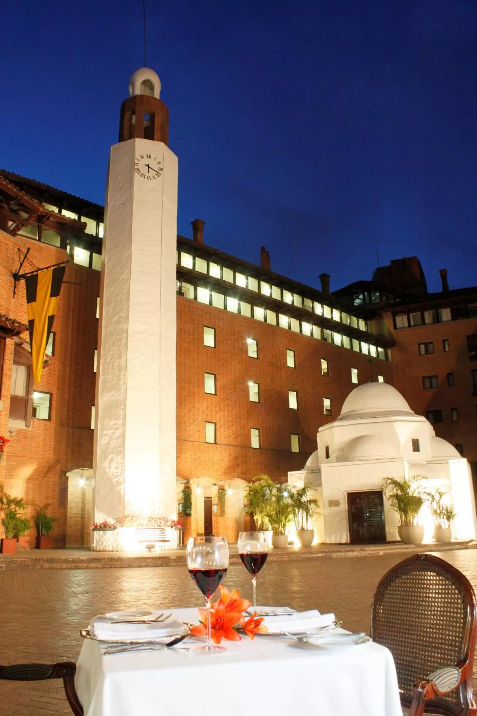
[[[406,544],[422,544],[424,527],[418,525],[418,516],[426,497],[415,480],[424,479],[422,475],[413,475],[410,479],[385,478],[383,491],[393,509],[399,515],[398,535]]]

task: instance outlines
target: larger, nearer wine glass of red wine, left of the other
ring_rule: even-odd
[[[186,551],[187,569],[195,584],[205,596],[207,606],[207,645],[193,649],[197,654],[215,654],[225,647],[212,644],[210,638],[210,599],[229,566],[229,548],[225,537],[190,537]]]

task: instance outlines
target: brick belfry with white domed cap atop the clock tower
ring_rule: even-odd
[[[169,110],[159,100],[161,81],[153,69],[140,67],[129,80],[129,97],[121,106],[119,142],[129,139],[169,138]]]

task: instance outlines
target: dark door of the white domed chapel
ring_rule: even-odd
[[[348,493],[350,543],[385,542],[383,493]]]

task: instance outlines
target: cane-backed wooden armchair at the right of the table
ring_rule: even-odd
[[[383,576],[371,637],[393,654],[409,716],[477,716],[472,693],[476,595],[460,571],[416,554]]]

